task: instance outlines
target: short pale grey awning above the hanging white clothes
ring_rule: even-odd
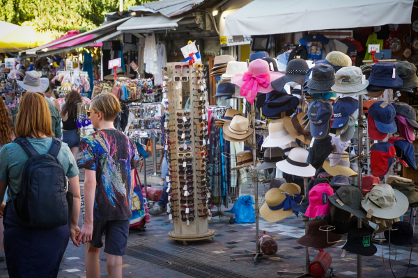
[[[132,17],[127,22],[118,26],[118,31],[135,32],[135,31],[146,31],[155,29],[167,29],[178,27],[178,22],[183,17],[169,18],[164,15],[148,15],[145,17]]]

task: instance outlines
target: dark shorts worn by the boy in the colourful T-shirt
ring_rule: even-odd
[[[104,252],[115,256],[125,255],[127,236],[129,235],[129,219],[93,220],[93,236],[89,243],[96,248],[102,248],[104,231],[106,231]]]

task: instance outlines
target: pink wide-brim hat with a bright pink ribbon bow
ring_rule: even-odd
[[[284,74],[280,72],[270,72],[270,67],[265,60],[257,59],[249,63],[248,71],[245,74],[235,74],[231,82],[238,85],[240,95],[245,97],[250,104],[254,104],[257,92],[272,92],[271,82],[279,79]]]

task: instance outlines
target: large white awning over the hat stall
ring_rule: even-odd
[[[226,17],[224,35],[270,35],[410,24],[414,0],[254,0]]]

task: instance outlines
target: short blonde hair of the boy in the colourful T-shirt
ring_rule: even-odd
[[[104,120],[113,122],[121,112],[121,104],[115,95],[104,93],[95,96],[91,100],[91,109],[103,114]]]

